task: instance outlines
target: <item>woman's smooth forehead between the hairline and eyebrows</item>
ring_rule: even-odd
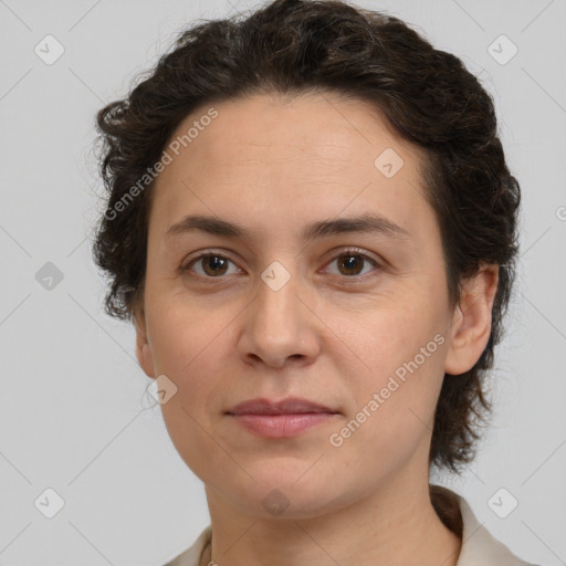
[[[214,119],[203,119],[211,108]],[[179,124],[166,150],[172,161],[156,181],[151,212],[161,234],[192,211],[251,228],[277,214],[291,223],[368,209],[407,227],[430,213],[424,153],[368,103],[333,93],[203,105]]]

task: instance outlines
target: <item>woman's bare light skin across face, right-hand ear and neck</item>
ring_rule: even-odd
[[[180,457],[205,483],[212,559],[455,565],[461,541],[431,505],[428,452],[444,373],[458,379],[488,343],[497,268],[483,265],[450,310],[440,231],[419,174],[423,155],[366,103],[254,94],[214,107],[219,116],[153,188],[135,312],[140,366],[178,388],[161,409]],[[171,139],[208,108],[187,116]],[[388,147],[405,161],[390,179],[374,165]],[[311,221],[368,211],[409,238],[346,233],[306,245],[298,237]],[[164,238],[189,213],[254,235]],[[340,261],[349,247],[369,258],[355,254],[358,271]],[[179,272],[211,250],[231,262],[201,260]],[[261,279],[273,261],[291,275],[279,291]],[[437,334],[443,344],[339,448],[331,446],[329,436]],[[291,439],[255,436],[224,413],[247,399],[290,396],[339,413]],[[272,490],[289,502],[279,516],[262,505]]]

